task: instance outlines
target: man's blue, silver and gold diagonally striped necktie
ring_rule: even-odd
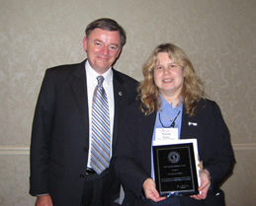
[[[98,76],[92,103],[91,167],[100,174],[110,165],[110,113],[107,95]]]

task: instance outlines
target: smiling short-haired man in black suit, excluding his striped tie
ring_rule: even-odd
[[[37,196],[37,206],[105,206],[119,198],[114,160],[103,172],[92,166],[91,117],[96,78],[101,76],[112,157],[123,109],[136,97],[137,82],[112,67],[125,43],[126,33],[117,22],[96,20],[84,37],[87,59],[46,70],[31,141],[30,193]]]

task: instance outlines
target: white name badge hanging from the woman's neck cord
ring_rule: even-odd
[[[155,141],[178,140],[178,128],[157,128]]]

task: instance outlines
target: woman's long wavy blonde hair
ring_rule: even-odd
[[[193,116],[198,102],[204,99],[204,89],[201,79],[196,75],[191,61],[185,52],[172,43],[158,45],[143,65],[144,80],[138,87],[138,99],[140,99],[140,109],[145,115],[159,110],[159,90],[154,82],[154,69],[157,63],[157,54],[167,52],[173,62],[184,69],[184,85],[181,96],[186,108],[186,112]]]

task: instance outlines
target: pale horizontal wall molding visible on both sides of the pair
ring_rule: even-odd
[[[234,151],[256,151],[256,143],[232,144]],[[29,147],[0,147],[0,156],[5,155],[30,155]]]

